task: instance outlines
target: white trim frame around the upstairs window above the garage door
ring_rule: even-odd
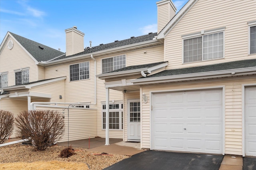
[[[189,64],[189,63],[196,63],[196,62],[202,62],[202,61],[212,61],[212,60],[224,59],[225,58],[225,55],[224,55],[225,54],[225,29],[226,29],[226,27],[220,27],[220,28],[208,29],[208,30],[203,29],[200,32],[181,35],[181,37],[182,37],[182,64]],[[204,60],[203,36],[213,34],[213,33],[220,33],[220,32],[223,32],[223,58]],[[192,38],[198,38],[198,37],[202,37],[202,61],[193,61],[193,62],[184,63],[184,40],[192,39]]]

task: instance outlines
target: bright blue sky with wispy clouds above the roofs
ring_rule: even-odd
[[[157,31],[160,0],[0,0],[0,42],[7,31],[66,51],[65,29],[85,33],[84,46]],[[172,0],[177,11],[188,0]]]

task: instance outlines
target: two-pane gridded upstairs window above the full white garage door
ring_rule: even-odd
[[[190,63],[223,58],[223,42],[224,32],[184,39],[183,62]]]

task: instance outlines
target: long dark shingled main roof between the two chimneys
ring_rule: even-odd
[[[95,47],[92,47],[92,48],[86,48],[81,53],[77,53],[77,54],[70,55],[70,56],[64,55],[62,57],[58,57],[58,58],[54,59],[53,61],[56,61],[56,60],[59,60],[59,59],[65,59],[65,58],[69,58],[69,57],[74,57],[74,56],[78,56],[78,55],[90,54],[90,53],[103,51],[103,50],[107,50],[107,49],[113,49],[113,48],[122,47],[122,46],[125,46],[125,45],[141,43],[141,42],[144,42],[144,41],[150,41],[156,35],[157,35],[157,33],[149,33],[147,35],[142,35],[142,36],[139,36],[139,37],[131,37],[130,39],[115,41],[113,43],[108,43],[108,44],[102,44],[102,45],[98,45],[98,46],[95,46]]]

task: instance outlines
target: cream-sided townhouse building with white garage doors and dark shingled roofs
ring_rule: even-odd
[[[66,54],[8,32],[0,109],[68,111],[70,140],[256,156],[256,1],[156,4],[158,33],[84,49],[72,27]]]

